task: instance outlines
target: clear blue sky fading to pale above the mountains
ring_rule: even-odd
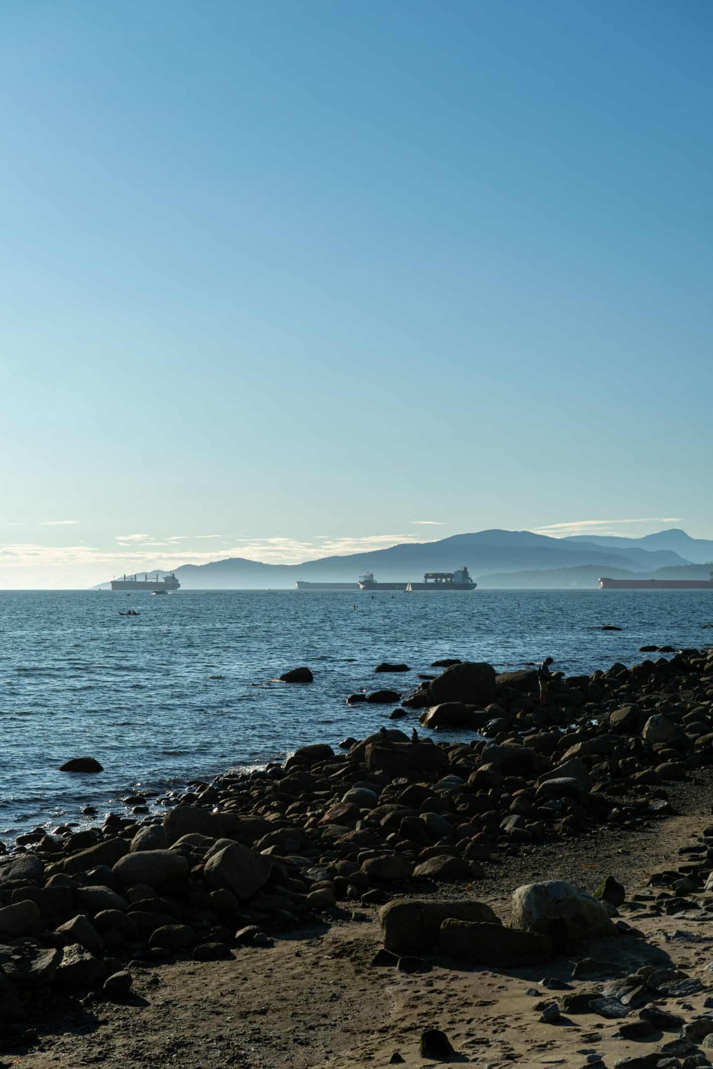
[[[708,0],[10,0],[0,31],[0,587],[713,537]]]

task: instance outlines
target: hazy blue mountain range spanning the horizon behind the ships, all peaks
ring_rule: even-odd
[[[465,564],[483,586],[513,586],[513,573],[518,573],[518,586],[594,587],[603,574],[611,578],[649,576],[660,569],[686,569],[708,560],[713,560],[713,541],[692,539],[677,528],[639,539],[613,536],[558,539],[532,531],[493,529],[350,556],[323,557],[301,564],[264,564],[229,557],[208,564],[183,564],[175,569],[175,575],[182,588],[188,590],[274,589],[293,587],[296,579],[356,583],[368,571],[383,583],[405,582],[420,579],[424,572],[452,572]],[[561,577],[554,574],[560,570],[567,574]],[[508,582],[493,582],[502,576],[508,576]],[[542,583],[538,582],[540,578]]]

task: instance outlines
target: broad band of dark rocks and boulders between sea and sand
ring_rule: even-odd
[[[217,967],[290,932],[363,923],[374,909],[383,954],[393,956],[382,965],[398,972],[425,972],[434,958],[517,969],[626,935],[616,919],[626,902],[620,881],[604,883],[599,899],[558,892],[564,904],[544,925],[540,899],[538,913],[522,893],[503,926],[481,888],[522,854],[598,828],[634,835],[675,812],[713,764],[713,650],[560,677],[544,709],[537,687],[532,670],[452,664],[391,713],[419,717],[415,738],[384,728],[345,740],[341,753],[306,746],[284,764],[167,795],[162,817],[109,815],[102,827],[20,837],[0,862],[5,1049],[42,1047],[42,1022],[67,1005],[131,997],[148,965]],[[438,742],[449,726],[479,738]],[[704,909],[704,839],[660,878],[666,916]],[[565,914],[578,918],[578,940]],[[394,941],[394,924],[408,945]],[[625,993],[613,996],[624,1008]],[[706,1035],[691,1037],[682,1042]],[[708,1064],[686,1062],[706,1057],[686,1050],[685,1069]],[[664,1051],[646,1065],[664,1057],[669,1069],[679,1064]]]

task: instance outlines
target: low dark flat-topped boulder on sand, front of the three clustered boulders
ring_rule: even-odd
[[[502,925],[448,918],[440,926],[439,954],[491,969],[539,965],[552,957],[548,935]]]

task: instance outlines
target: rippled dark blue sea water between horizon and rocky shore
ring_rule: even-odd
[[[129,606],[140,616],[120,617]],[[707,624],[708,591],[0,591],[0,837],[363,737],[393,707],[345,697],[406,694],[436,659],[506,670],[551,655],[572,675],[634,664],[645,644],[713,645]],[[413,670],[374,675],[382,661]],[[298,665],[312,684],[276,681]],[[105,772],[58,771],[76,756]]]

